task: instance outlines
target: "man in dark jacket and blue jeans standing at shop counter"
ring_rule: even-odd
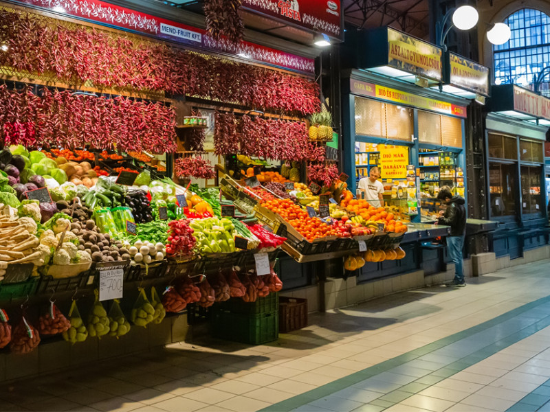
[[[447,249],[454,262],[454,279],[446,286],[461,288],[466,286],[462,262],[462,248],[466,233],[466,208],[465,200],[461,196],[452,196],[450,187],[443,186],[439,190],[437,198],[447,205],[443,216],[439,217],[439,224],[451,227],[450,236],[447,237]]]

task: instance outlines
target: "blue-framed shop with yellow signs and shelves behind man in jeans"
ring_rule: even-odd
[[[439,188],[448,185],[466,197],[464,119],[470,96],[456,87],[456,95],[439,91],[445,81],[439,47],[389,27],[359,37],[360,57],[342,82],[343,167],[355,177],[349,186],[361,196],[360,179],[377,165],[384,203],[418,233],[415,241],[402,244],[407,260],[368,264],[358,280],[418,268],[434,273],[446,259],[441,244],[432,244],[445,236],[431,225],[441,210]]]

